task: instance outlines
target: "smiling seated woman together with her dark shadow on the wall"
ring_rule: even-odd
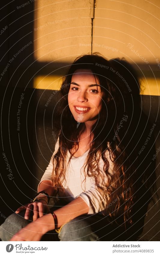
[[[59,93],[59,136],[40,193],[11,215],[21,229],[9,231],[3,223],[0,237],[11,233],[10,241],[43,241],[50,233],[54,241],[56,229],[60,241],[133,241],[150,196],[145,179],[154,178],[137,157],[143,136],[136,74],[125,60],[83,55],[69,68]],[[60,199],[57,208],[47,206],[50,197]],[[141,211],[135,210],[140,202]]]

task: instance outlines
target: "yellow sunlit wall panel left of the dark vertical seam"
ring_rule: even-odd
[[[35,58],[71,62],[91,51],[91,4],[86,0],[35,2]]]

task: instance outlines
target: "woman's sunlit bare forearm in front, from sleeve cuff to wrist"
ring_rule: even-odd
[[[77,216],[88,213],[88,211],[89,206],[81,197],[74,199],[69,204],[54,211],[58,220],[57,228],[61,227],[65,223],[68,223]],[[40,229],[43,233],[47,233],[48,231],[55,229],[54,219],[51,213],[45,214],[43,217],[38,218],[36,222],[41,224],[39,227],[41,226]]]

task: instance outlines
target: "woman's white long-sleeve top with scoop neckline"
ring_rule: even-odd
[[[58,148],[59,148],[59,139],[56,142],[55,150],[53,152],[52,157],[57,153]],[[63,187],[65,188],[65,194],[61,194],[61,192],[59,192],[58,196],[63,197],[63,199],[68,203],[80,196],[81,198],[83,198],[84,201],[86,201],[86,203],[89,206],[88,214],[93,214],[93,213],[101,212],[106,208],[107,201],[108,201],[107,196],[109,195],[107,194],[106,188],[105,188],[105,191],[106,191],[105,197],[103,196],[102,192],[98,191],[98,188],[96,188],[96,185],[95,185],[95,179],[93,177],[86,176],[86,182],[83,182],[85,178],[83,167],[84,167],[84,163],[85,163],[88,152],[89,150],[79,157],[72,156],[71,161],[67,168],[67,177],[65,179],[65,184],[63,185]],[[108,150],[106,150],[106,153],[108,155],[107,159],[110,164],[109,172],[112,175],[113,162],[110,160]],[[69,160],[70,156],[71,154],[68,151],[67,160]],[[40,183],[44,180],[52,181],[52,172],[53,172],[52,157],[49,165],[47,166],[47,169],[45,170],[41,178]],[[104,162],[102,159],[100,159],[100,170],[102,172],[103,172],[103,166],[104,166]],[[105,177],[105,179],[107,180],[107,177]]]

